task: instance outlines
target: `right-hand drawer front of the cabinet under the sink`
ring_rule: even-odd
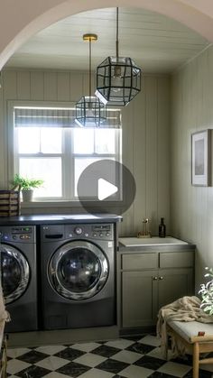
[[[168,252],[160,254],[160,268],[188,268],[194,265],[194,253]]]

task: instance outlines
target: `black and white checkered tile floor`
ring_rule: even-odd
[[[162,359],[159,339],[146,335],[69,346],[8,349],[10,378],[192,378],[191,357]],[[203,367],[204,369],[204,367]],[[205,365],[199,378],[211,378]]]

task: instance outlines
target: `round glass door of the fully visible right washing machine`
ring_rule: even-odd
[[[105,285],[108,271],[103,251],[81,240],[62,245],[51,257],[48,267],[52,287],[69,300],[94,297]]]

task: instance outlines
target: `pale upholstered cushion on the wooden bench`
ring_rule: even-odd
[[[193,342],[193,337],[197,337],[199,332],[205,332],[205,336],[212,337],[213,323],[200,323],[199,321],[169,321],[168,325],[188,343]],[[201,341],[202,337],[200,337]]]

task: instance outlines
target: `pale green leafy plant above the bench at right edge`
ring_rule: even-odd
[[[208,273],[204,277],[208,277],[208,282],[201,283],[201,289],[199,294],[201,294],[201,305],[200,308],[207,312],[209,315],[213,314],[213,269],[205,268]]]

